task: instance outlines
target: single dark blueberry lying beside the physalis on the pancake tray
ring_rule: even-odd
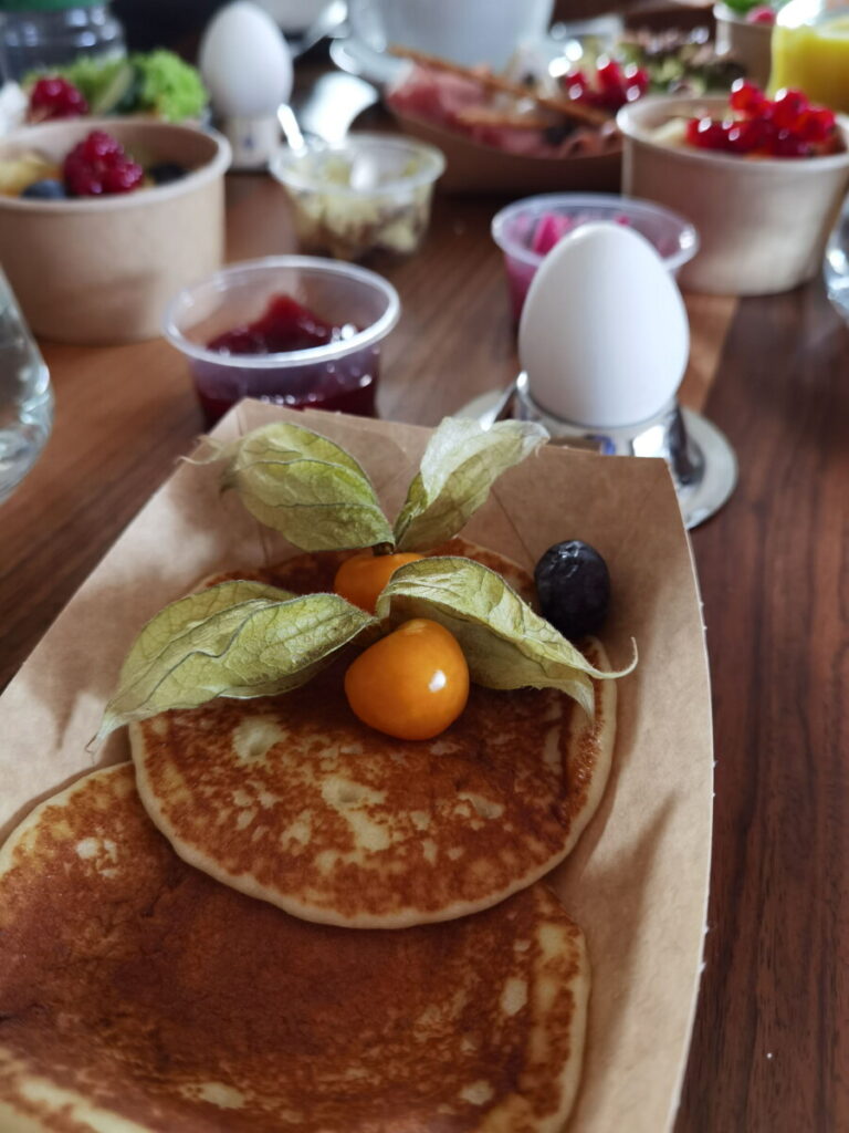
[[[533,571],[542,616],[571,641],[594,633],[610,602],[610,576],[599,552],[580,539],[549,547]]]

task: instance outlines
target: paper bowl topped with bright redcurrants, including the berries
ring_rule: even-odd
[[[624,108],[623,190],[698,229],[698,255],[679,275],[685,289],[787,291],[821,269],[849,185],[849,120],[798,92],[766,101],[745,80],[730,97],[731,105],[669,96]]]

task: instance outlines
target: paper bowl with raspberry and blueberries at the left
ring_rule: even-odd
[[[138,118],[0,139],[0,261],[33,331],[155,338],[174,291],[221,265],[229,163],[220,135]]]

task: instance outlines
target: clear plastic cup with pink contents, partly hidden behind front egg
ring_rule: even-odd
[[[693,224],[649,201],[633,201],[612,193],[542,193],[516,201],[496,213],[491,227],[492,239],[504,253],[511,310],[516,324],[531,280],[551,250],[542,225],[566,235],[581,224],[597,221],[624,224],[640,232],[654,246],[674,275],[698,250],[698,233]]]

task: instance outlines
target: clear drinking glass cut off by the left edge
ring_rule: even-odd
[[[38,459],[52,425],[50,373],[0,271],[0,503]]]

